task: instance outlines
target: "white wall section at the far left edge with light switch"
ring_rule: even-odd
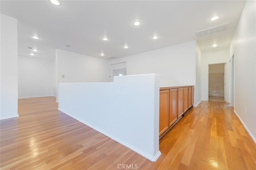
[[[0,119],[18,117],[17,20],[1,14]]]

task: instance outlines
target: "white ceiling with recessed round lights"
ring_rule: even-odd
[[[54,60],[55,48],[88,56],[124,57],[197,40],[202,52],[228,48],[245,1],[1,0],[1,14],[18,19],[18,55]],[[210,21],[212,16],[220,16]],[[133,22],[139,20],[140,26]],[[230,22],[229,29],[202,38],[197,31]],[[32,36],[40,37],[35,40]],[[159,36],[153,40],[152,36]],[[108,37],[108,41],[102,40]],[[70,45],[70,47],[66,47]],[[123,48],[127,45],[129,48]],[[214,49],[214,50],[216,50]],[[100,56],[101,53],[105,56]]]

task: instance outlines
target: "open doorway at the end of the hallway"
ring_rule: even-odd
[[[225,102],[225,80],[226,80],[225,63],[209,64],[208,72],[208,100]]]

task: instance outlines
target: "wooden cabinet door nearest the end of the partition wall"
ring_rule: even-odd
[[[159,136],[169,128],[169,90],[160,91]]]

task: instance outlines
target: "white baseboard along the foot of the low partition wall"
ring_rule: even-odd
[[[123,140],[120,140],[119,138],[116,138],[115,136],[112,136],[111,134],[93,126],[92,124],[89,124],[88,122],[85,122],[84,120],[81,120],[80,118],[76,117],[76,116],[73,116],[72,114],[68,113],[68,112],[65,112],[64,110],[61,110],[60,108],[58,108],[58,110],[60,110],[61,112],[67,114],[68,116],[78,120],[79,122],[83,123],[83,124],[86,124],[87,126],[93,128],[94,130],[110,137],[111,139],[115,140],[116,142],[126,146],[127,148],[133,150],[134,152],[137,152],[138,154],[140,154],[141,156],[144,156],[145,158],[147,158],[148,160],[151,160],[152,162],[156,162],[156,160],[159,158],[159,156],[161,155],[161,152],[158,151],[154,156],[151,156],[145,152],[143,152],[142,150],[139,150],[138,148],[135,148],[134,146],[124,142]]]

